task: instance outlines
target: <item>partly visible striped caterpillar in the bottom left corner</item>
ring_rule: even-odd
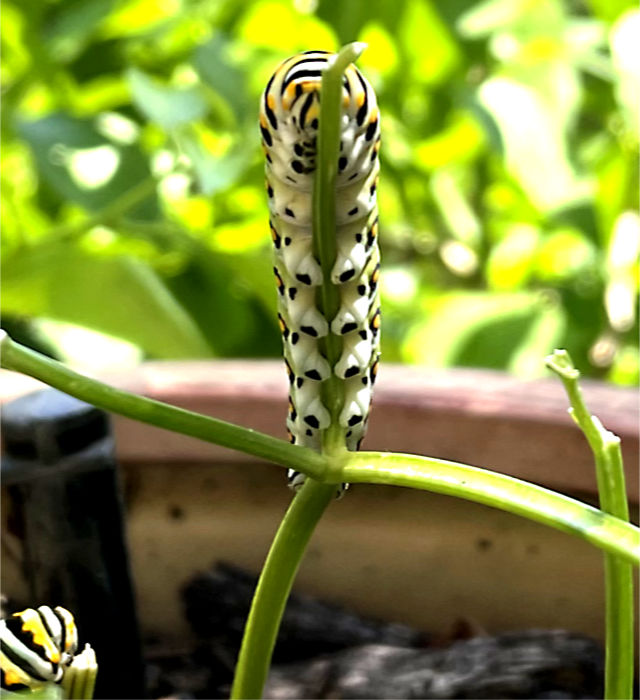
[[[62,680],[78,648],[73,615],[64,608],[27,608],[0,620],[2,688],[38,688]]]

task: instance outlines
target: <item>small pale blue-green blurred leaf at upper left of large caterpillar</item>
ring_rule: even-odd
[[[137,68],[127,71],[133,102],[148,119],[167,131],[202,119],[207,103],[200,88],[161,85]]]

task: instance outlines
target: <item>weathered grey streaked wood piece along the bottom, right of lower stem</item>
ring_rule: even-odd
[[[288,698],[601,698],[602,649],[564,630],[456,642],[369,645],[274,667],[265,700]]]

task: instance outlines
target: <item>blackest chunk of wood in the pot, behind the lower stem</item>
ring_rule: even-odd
[[[156,655],[151,692],[227,698],[257,576],[226,563],[194,576],[183,588],[185,614],[198,642],[180,659]],[[292,593],[287,601],[273,659],[289,663],[362,644],[422,646],[427,635],[406,625],[360,617],[337,605]],[[204,673],[203,673],[204,671]],[[312,697],[312,696],[300,696]]]

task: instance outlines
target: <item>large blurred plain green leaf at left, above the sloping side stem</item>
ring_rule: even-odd
[[[85,326],[157,358],[207,357],[193,320],[155,272],[133,258],[43,243],[2,260],[2,311]]]

